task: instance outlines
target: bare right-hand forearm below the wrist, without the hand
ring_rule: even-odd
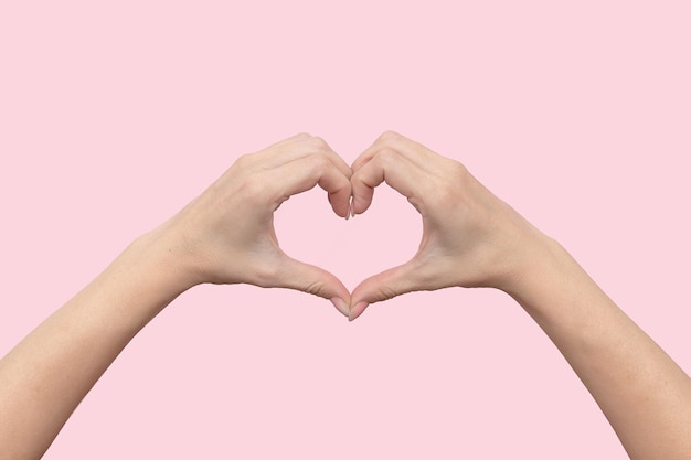
[[[563,353],[632,459],[691,458],[691,379],[557,244],[508,292]]]

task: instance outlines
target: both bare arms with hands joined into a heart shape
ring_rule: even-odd
[[[337,215],[361,214],[386,182],[421,213],[408,263],[352,295],[288,257],[273,213],[320,185]],[[351,203],[352,197],[352,203]],[[242,157],[180,213],[135,240],[83,291],[0,361],[0,458],[43,456],[132,336],[181,292],[204,284],[310,292],[354,320],[405,292],[491,287],[512,296],[564,354],[631,459],[691,459],[691,379],[556,242],[460,163],[394,132],[349,167],[299,135]]]

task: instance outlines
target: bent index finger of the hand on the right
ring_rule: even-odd
[[[352,178],[352,211],[362,214],[372,204],[374,189],[386,182],[417,206],[419,186],[425,183],[426,172],[397,150],[384,148],[372,160],[357,170]]]

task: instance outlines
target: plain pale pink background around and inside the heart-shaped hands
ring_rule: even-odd
[[[690,371],[689,3],[0,3],[0,354],[240,154],[308,131],[350,162],[395,129],[570,248]],[[421,235],[384,188],[354,221],[318,190],[276,221],[350,288]],[[626,454],[507,296],[414,293],[349,324],[300,292],[205,286],[45,458],[508,457]]]

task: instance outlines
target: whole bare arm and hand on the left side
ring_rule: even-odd
[[[135,334],[192,286],[299,289],[348,314],[350,295],[333,275],[280,250],[273,214],[319,184],[333,211],[347,216],[350,173],[322,140],[300,135],[241,158],[178,215],[134,242],[0,361],[0,458],[41,458]]]

